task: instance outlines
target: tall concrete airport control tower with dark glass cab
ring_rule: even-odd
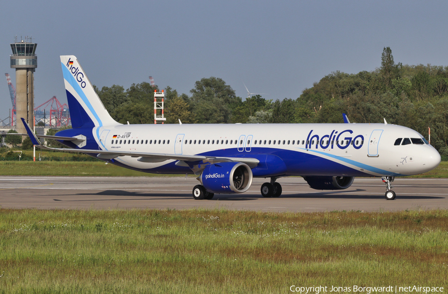
[[[16,90],[16,118],[17,133],[26,134],[20,118],[24,118],[28,125],[34,125],[34,70],[37,67],[36,52],[37,44],[30,37],[25,40],[11,44],[12,55],[11,68],[15,68],[15,90]]]

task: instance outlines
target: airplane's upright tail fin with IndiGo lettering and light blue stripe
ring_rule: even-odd
[[[72,127],[119,125],[104,107],[78,59],[73,55],[62,55],[61,65]]]

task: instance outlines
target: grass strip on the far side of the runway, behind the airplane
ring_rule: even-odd
[[[160,176],[105,164],[103,161],[0,161],[0,175]],[[448,161],[411,177],[448,178]]]

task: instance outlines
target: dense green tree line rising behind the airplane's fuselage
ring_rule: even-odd
[[[123,124],[151,124],[154,120],[154,90],[149,83],[132,84],[124,90],[112,85],[96,88],[112,117]],[[373,71],[347,74],[336,71],[297,99],[260,95],[241,99],[221,78],[197,81],[190,95],[165,89],[168,124],[182,123],[382,123],[412,128],[448,155],[448,66],[395,63],[385,47],[381,66]]]

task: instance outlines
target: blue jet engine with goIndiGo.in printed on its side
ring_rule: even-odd
[[[241,162],[220,162],[207,165],[199,177],[212,193],[243,193],[252,184],[252,170]]]

